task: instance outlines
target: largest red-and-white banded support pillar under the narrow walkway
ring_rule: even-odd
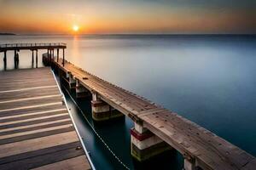
[[[146,161],[166,150],[172,150],[172,147],[143,127],[143,123],[135,122],[134,128],[131,128],[131,156],[135,160]]]

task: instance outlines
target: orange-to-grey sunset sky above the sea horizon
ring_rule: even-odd
[[[256,33],[256,0],[0,0],[0,32]]]

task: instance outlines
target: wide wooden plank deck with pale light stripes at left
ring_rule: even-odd
[[[49,68],[0,72],[0,169],[91,169]]]

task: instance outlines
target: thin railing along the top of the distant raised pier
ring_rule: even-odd
[[[0,48],[15,48],[15,47],[52,47],[52,46],[67,46],[67,43],[53,42],[53,43],[5,43],[0,44]]]

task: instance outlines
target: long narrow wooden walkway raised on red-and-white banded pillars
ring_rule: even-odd
[[[207,129],[95,77],[67,61],[65,67],[61,64],[61,59],[58,63],[54,61],[54,65],[62,71],[71,73],[85,88],[96,92],[100,99],[130,116],[135,122],[143,122],[151,132],[172,145],[186,159],[195,161],[197,166],[218,170],[256,169],[255,157]]]

